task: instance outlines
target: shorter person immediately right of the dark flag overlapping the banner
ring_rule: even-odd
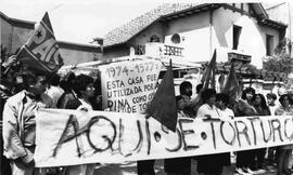
[[[189,105],[184,98],[179,95],[176,96],[176,105],[178,111],[178,118],[189,118],[184,112],[184,108]],[[191,158],[174,158],[165,159],[164,170],[167,175],[190,175],[191,174]]]

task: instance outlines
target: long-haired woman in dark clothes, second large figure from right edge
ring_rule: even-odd
[[[257,112],[256,116],[270,116],[270,110],[269,107],[267,106],[265,96],[263,94],[255,94],[254,96],[254,108]],[[253,162],[254,164],[253,170],[256,170],[257,173],[265,173],[265,154],[266,154],[266,148],[260,148],[260,149],[254,149],[254,157],[256,158],[256,162]],[[253,159],[255,160],[255,159]]]

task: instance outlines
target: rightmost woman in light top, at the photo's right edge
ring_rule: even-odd
[[[279,102],[281,106],[276,109],[276,116],[292,116],[293,110],[291,108],[292,99],[288,94],[280,96]],[[278,173],[277,175],[289,175],[291,171],[288,169],[289,159],[293,149],[293,145],[279,146],[277,148],[277,164]]]

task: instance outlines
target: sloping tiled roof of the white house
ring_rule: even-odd
[[[104,37],[104,46],[124,43],[161,16],[194,8],[196,5],[199,5],[199,3],[164,3],[158,8],[130,21],[122,27],[110,31]]]

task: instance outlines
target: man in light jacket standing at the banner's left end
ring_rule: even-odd
[[[36,175],[34,165],[36,148],[35,111],[49,108],[46,91],[47,76],[33,70],[23,73],[25,90],[10,97],[3,109],[3,148],[10,160],[13,175]]]

